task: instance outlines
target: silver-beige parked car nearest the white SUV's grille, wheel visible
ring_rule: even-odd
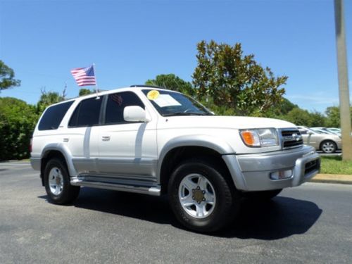
[[[334,153],[342,149],[341,137],[337,134],[322,134],[308,127],[297,126],[303,137],[304,144],[313,146],[316,150],[324,153]]]

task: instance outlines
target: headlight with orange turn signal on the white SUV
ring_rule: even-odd
[[[275,128],[260,128],[256,130],[239,130],[241,139],[247,146],[278,146],[279,137]]]

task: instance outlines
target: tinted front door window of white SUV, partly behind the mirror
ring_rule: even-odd
[[[123,109],[126,106],[141,106],[144,109],[144,104],[134,92],[109,94],[106,104],[105,124],[113,125],[126,122],[123,119]]]

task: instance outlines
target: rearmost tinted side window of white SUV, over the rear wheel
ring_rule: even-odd
[[[42,119],[39,122],[39,130],[57,130],[68,108],[73,104],[73,101],[60,103],[56,106],[50,106],[46,109]]]

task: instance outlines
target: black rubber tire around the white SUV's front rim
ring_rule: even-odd
[[[201,219],[187,213],[179,199],[179,188],[182,180],[192,174],[205,177],[214,190],[214,207],[209,215]],[[222,172],[217,165],[200,159],[185,161],[178,165],[172,173],[168,184],[170,206],[177,220],[179,220],[184,227],[196,232],[215,232],[232,222],[239,210],[241,197],[231,181],[231,178],[227,177],[226,172]],[[192,199],[194,199],[194,197],[192,197]],[[196,203],[196,201],[194,201],[194,203]],[[202,202],[199,204],[201,205],[201,203]]]

